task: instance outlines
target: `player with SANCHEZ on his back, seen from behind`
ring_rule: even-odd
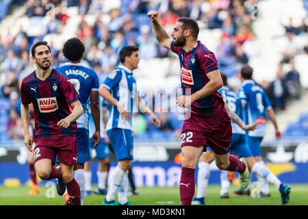
[[[68,77],[68,81],[73,84],[75,90],[80,95],[80,102],[84,108],[84,114],[77,120],[77,164],[74,166],[75,179],[78,182],[81,190],[81,205],[84,203],[84,188],[85,175],[84,163],[90,160],[89,146],[89,114],[88,114],[88,99],[90,96],[90,108],[94,120],[95,131],[92,135],[93,147],[95,148],[101,140],[100,133],[100,112],[99,112],[99,77],[97,73],[90,68],[86,68],[80,64],[84,55],[84,44],[78,38],[70,38],[64,43],[62,49],[64,57],[68,59],[57,70]],[[57,191],[60,195],[64,194],[65,190]],[[68,196],[65,197],[68,201]]]

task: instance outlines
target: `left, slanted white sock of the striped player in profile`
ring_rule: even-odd
[[[113,201],[116,196],[116,191],[123,183],[123,177],[125,176],[125,172],[116,166],[114,168],[114,174],[112,175],[111,183],[109,186],[109,190],[107,192],[106,201]]]

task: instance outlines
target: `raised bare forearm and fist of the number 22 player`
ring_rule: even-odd
[[[148,12],[148,16],[152,22],[155,38],[157,39],[157,41],[162,47],[170,49],[171,39],[169,38],[164,28],[162,28],[162,25],[157,20],[158,12],[155,10],[151,10]]]

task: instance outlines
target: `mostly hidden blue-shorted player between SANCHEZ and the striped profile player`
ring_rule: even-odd
[[[97,157],[99,161],[99,166],[97,168],[97,179],[98,179],[98,188],[94,190],[95,194],[107,194],[107,175],[110,169],[110,140],[105,132],[105,124],[107,123],[107,104],[105,101],[101,104],[101,118],[103,120],[103,123],[101,123],[101,142],[99,142],[99,145],[93,149],[94,142],[92,142],[92,139],[90,139],[90,148],[92,149],[91,158]],[[89,127],[90,133],[92,133],[92,128]],[[91,135],[90,135],[91,136]],[[96,155],[93,155],[93,150],[95,150]],[[90,161],[86,162],[84,165],[84,174],[86,178],[86,195],[92,194],[91,190],[91,178],[92,178],[92,172],[90,169]]]

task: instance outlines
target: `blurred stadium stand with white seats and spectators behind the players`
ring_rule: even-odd
[[[162,23],[169,32],[179,16],[198,20],[200,40],[216,52],[220,70],[231,77],[229,83],[235,90],[240,83],[236,77],[238,70],[242,64],[248,63],[255,69],[255,80],[272,96],[272,103],[277,94],[271,85],[274,86],[273,81],[277,80],[285,84],[285,96],[278,97],[283,98],[286,109],[302,98],[303,88],[308,88],[306,0],[292,3],[278,0],[159,2],[1,1],[0,105],[12,105],[12,99],[18,93],[18,83],[33,70],[29,61],[29,49],[33,42],[42,39],[49,41],[54,58],[53,67],[57,67],[65,62],[60,52],[64,40],[73,36],[83,40],[86,45],[84,60],[97,71],[101,79],[118,64],[116,54],[120,47],[138,44],[142,58],[140,68],[135,73],[139,90],[179,88],[177,57],[159,47],[155,41],[146,16],[146,12],[152,9],[162,14]],[[48,3],[55,4],[54,11],[46,9]],[[255,10],[256,3],[258,11]],[[16,11],[22,15],[8,14],[10,7],[18,8]],[[272,13],[272,8],[277,9],[275,13]],[[283,20],[290,17],[292,23],[288,19]],[[277,77],[279,69],[281,76]],[[296,72],[294,75],[298,77],[287,78],[290,72]],[[15,93],[11,95],[12,92]],[[171,98],[167,100],[172,101]],[[18,103],[14,104],[18,106]],[[285,108],[278,105],[275,110],[280,113]],[[9,123],[10,114],[14,113],[9,109],[0,109],[1,142],[12,139],[6,124]],[[137,133],[137,141],[179,139],[181,120],[177,120],[177,114],[167,114],[167,131],[153,129],[149,118],[140,119],[140,116],[143,115],[136,114],[134,120],[138,120],[145,129]],[[12,124],[10,127],[14,129],[18,122]],[[307,121],[302,123],[300,120],[300,125],[292,124],[285,129],[285,136],[305,135]],[[301,129],[303,127],[306,128]]]

